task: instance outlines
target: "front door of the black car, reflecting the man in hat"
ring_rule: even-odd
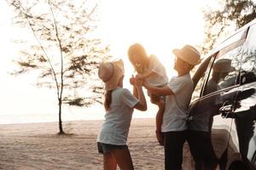
[[[239,90],[241,54],[246,34],[247,30],[237,32],[220,44],[209,57],[205,76],[201,73],[203,83],[199,80],[195,86],[195,91],[201,91],[200,97],[196,98],[194,92],[189,106],[189,129],[211,133],[215,155],[225,160],[221,162],[220,168],[224,168],[226,163],[226,157],[223,159],[223,156],[226,156],[230,141],[231,112]]]

